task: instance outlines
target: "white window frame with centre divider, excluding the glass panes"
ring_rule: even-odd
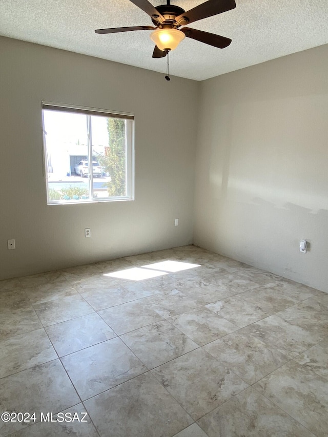
[[[46,146],[46,131],[43,110],[72,112],[75,114],[83,113],[87,116],[88,123],[88,160],[92,162],[92,130],[91,130],[91,115],[103,115],[112,118],[122,118],[129,120],[126,123],[126,196],[111,196],[98,198],[94,197],[93,188],[93,166],[89,165],[89,193],[90,197],[85,200],[50,200],[49,199],[49,183],[47,177],[47,146]],[[77,105],[67,105],[63,103],[54,103],[42,101],[42,123],[43,123],[43,145],[44,145],[44,176],[47,185],[47,203],[48,205],[72,205],[76,203],[97,203],[97,202],[113,202],[134,200],[134,114],[126,112],[116,112],[98,108],[81,107]],[[91,157],[91,159],[90,159]]]

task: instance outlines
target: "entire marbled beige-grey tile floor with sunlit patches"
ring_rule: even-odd
[[[35,412],[0,436],[328,435],[313,288],[185,246],[1,281],[0,316],[0,410]]]

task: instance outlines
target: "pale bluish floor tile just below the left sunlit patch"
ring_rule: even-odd
[[[114,288],[98,288],[81,294],[83,298],[96,310],[110,308],[125,302],[136,300],[134,293],[126,288],[116,286]]]

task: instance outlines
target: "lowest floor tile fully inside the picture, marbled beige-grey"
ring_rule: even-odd
[[[163,364],[152,373],[194,420],[248,387],[202,349]]]

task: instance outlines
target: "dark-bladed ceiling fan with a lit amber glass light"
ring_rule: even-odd
[[[183,27],[181,30],[178,28],[203,18],[230,11],[236,7],[235,0],[208,0],[187,12],[179,6],[171,5],[170,0],[167,0],[166,5],[157,7],[151,5],[148,0],[130,0],[130,2],[145,11],[151,17],[155,27],[115,27],[112,29],[97,29],[95,32],[104,34],[133,30],[153,30],[150,35],[155,43],[153,58],[165,57],[171,50],[176,49],[186,36],[219,49],[228,47],[231,43],[230,38],[215,35],[214,33],[203,32],[190,27]]]

